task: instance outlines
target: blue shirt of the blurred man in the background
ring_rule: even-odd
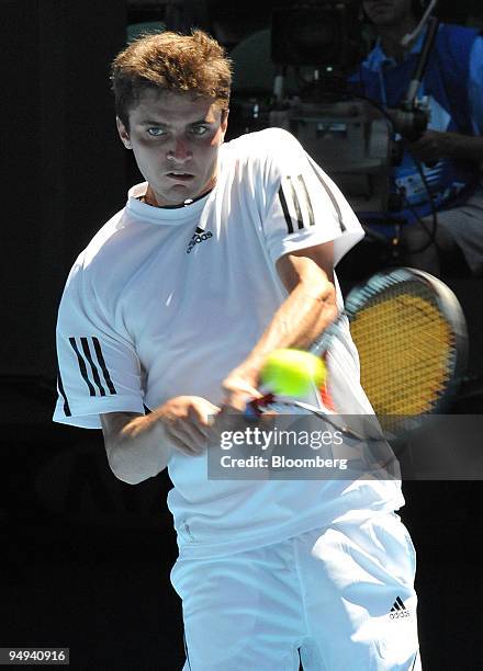
[[[389,58],[380,41],[351,79],[368,98],[387,107],[403,101],[422,50],[425,31],[402,64]],[[483,37],[473,29],[441,24],[417,93],[427,96],[428,129],[481,135],[483,133]],[[454,207],[467,200],[480,181],[476,163],[441,159],[422,166],[437,209]],[[403,194],[404,207],[392,215],[406,221],[431,212],[419,170],[406,151],[392,171],[392,192]],[[359,213],[364,218],[364,213]]]

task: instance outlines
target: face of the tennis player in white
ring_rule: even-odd
[[[216,182],[227,113],[212,100],[147,90],[130,112],[130,130],[117,120],[125,147],[159,206],[180,205]]]

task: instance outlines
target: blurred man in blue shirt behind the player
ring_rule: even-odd
[[[357,88],[385,107],[398,107],[426,35],[424,29],[407,46],[402,44],[419,23],[422,2],[363,0],[362,7],[378,41],[359,68]],[[391,190],[401,196],[401,208],[391,216],[406,223],[402,261],[439,275],[450,272],[460,257],[462,266],[481,275],[483,37],[476,30],[440,24],[417,93],[423,96],[430,110],[428,127],[416,141],[405,144],[391,174]]]

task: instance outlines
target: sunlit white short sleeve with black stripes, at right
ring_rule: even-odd
[[[263,232],[273,262],[291,251],[334,241],[334,264],[362,237],[363,229],[340,190],[304,151],[279,128],[266,184],[269,194]]]

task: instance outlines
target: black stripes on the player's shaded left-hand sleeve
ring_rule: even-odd
[[[117,394],[105,365],[99,339],[96,337],[69,338],[69,343],[76,354],[79,373],[86,383],[89,396],[113,396]],[[58,389],[64,398],[64,412],[66,417],[71,417],[60,374],[58,375]]]

